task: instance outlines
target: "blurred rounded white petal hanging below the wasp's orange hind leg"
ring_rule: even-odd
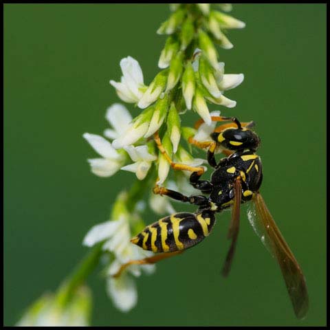
[[[107,293],[113,305],[120,311],[129,311],[137,303],[137,289],[135,281],[129,274],[122,274],[118,278],[109,277],[107,280]]]

